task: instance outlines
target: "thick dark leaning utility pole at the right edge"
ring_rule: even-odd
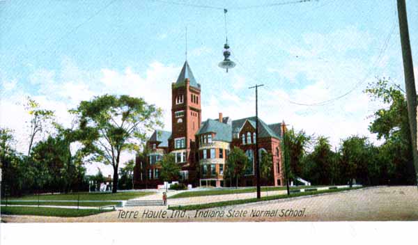
[[[411,45],[408,31],[405,0],[398,0],[399,33],[403,58],[403,74],[405,76],[406,103],[412,137],[412,156],[415,166],[415,180],[418,187],[418,149],[417,149],[417,91],[415,90],[414,65],[412,63]]]

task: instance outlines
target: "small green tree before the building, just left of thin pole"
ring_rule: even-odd
[[[244,175],[245,171],[251,167],[249,157],[238,147],[232,148],[229,152],[228,159],[225,164],[225,178],[229,178],[232,186],[232,179],[235,178],[235,187],[238,187],[238,179]]]

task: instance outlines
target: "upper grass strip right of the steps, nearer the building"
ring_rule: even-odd
[[[294,189],[304,189],[304,188],[316,188],[320,186],[298,186],[290,187],[291,190]],[[216,196],[216,195],[227,195],[227,194],[238,194],[238,193],[249,193],[256,192],[256,187],[246,188],[246,189],[215,189],[208,191],[185,191],[178,193],[176,195],[170,196],[169,198],[192,198],[195,196]],[[261,187],[261,191],[283,191],[286,190],[286,187]]]

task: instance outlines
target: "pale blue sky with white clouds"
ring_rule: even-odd
[[[15,147],[26,154],[27,96],[69,126],[68,109],[113,94],[160,106],[164,129],[171,130],[171,83],[185,61],[187,27],[187,61],[201,84],[203,120],[219,112],[254,116],[249,86],[264,84],[258,115],[265,122],[284,120],[329,137],[334,147],[351,135],[381,143],[368,126],[385,105],[363,90],[377,77],[404,88],[396,0],[285,2],[0,1],[0,127],[15,131]],[[418,77],[418,1],[406,2]],[[237,64],[228,73],[217,67],[225,33]],[[122,159],[133,156],[125,152]],[[86,167],[88,174],[98,167],[112,173],[102,164]]]

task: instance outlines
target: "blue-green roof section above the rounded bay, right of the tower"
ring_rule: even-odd
[[[232,141],[232,128],[231,125],[228,125],[224,122],[219,122],[218,120],[208,119],[202,122],[199,131],[196,135],[206,134],[206,133],[215,133],[214,141]]]

